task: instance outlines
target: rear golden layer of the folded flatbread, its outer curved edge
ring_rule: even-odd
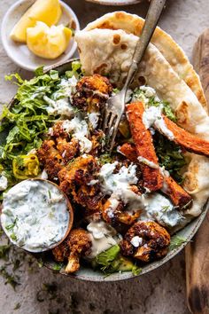
[[[127,12],[112,12],[107,13],[101,18],[89,23],[84,30],[95,28],[123,29],[128,34],[141,35],[143,23],[143,18],[135,14],[129,14]],[[182,51],[182,48],[160,27],[157,27],[152,35],[151,43],[153,43],[164,55],[171,67],[174,68],[174,71],[184,82],[187,83],[190,89],[196,94],[199,102],[207,111],[207,102],[199,76],[193,69],[184,51]]]

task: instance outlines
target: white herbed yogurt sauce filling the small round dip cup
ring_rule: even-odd
[[[4,195],[1,222],[15,244],[41,252],[64,238],[69,211],[58,187],[41,180],[25,180]]]

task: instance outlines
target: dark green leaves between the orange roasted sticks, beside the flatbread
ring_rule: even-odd
[[[182,184],[183,177],[181,169],[186,165],[185,158],[182,154],[181,146],[169,141],[166,137],[155,132],[154,146],[157,156],[159,157],[159,166],[165,167],[170,175],[178,184]]]

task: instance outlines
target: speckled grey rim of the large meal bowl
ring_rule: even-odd
[[[72,62],[74,61],[78,61],[80,60],[79,58],[74,58],[74,59],[69,59],[67,61],[60,61],[55,65],[50,66],[48,69],[46,69],[44,71],[44,73],[48,73],[50,70],[57,70],[58,72],[62,72],[63,69],[61,67],[67,67],[68,65],[71,66]],[[65,69],[66,71],[66,69]],[[11,101],[8,104],[8,107],[12,106],[12,104],[14,103],[15,98],[13,97],[11,99]],[[190,242],[190,240],[193,238],[193,236],[195,235],[195,233],[197,232],[198,228],[201,226],[201,224],[203,223],[207,210],[209,208],[209,198],[205,201],[205,205],[203,206],[203,210],[201,212],[201,214],[197,217],[194,217],[189,224],[186,224],[180,231],[177,231],[175,233],[181,232],[184,228],[186,227],[190,227],[190,232],[189,235],[187,236],[185,242],[183,242],[179,247],[174,248],[172,251],[168,252],[167,255],[160,259],[157,260],[155,262],[149,263],[147,266],[145,266],[143,268],[143,271],[137,275],[134,276],[132,274],[131,271],[126,271],[126,272],[122,272],[122,273],[113,273],[112,275],[108,276],[108,277],[104,277],[104,274],[101,271],[98,271],[99,276],[91,276],[91,275],[84,275],[81,274],[80,271],[78,271],[75,274],[69,274],[66,273],[65,271],[56,271],[56,273],[59,273],[60,275],[65,275],[66,277],[69,277],[71,279],[77,279],[77,280],[84,280],[84,281],[90,281],[90,282],[113,282],[113,281],[121,281],[121,280],[127,280],[127,279],[135,279],[139,276],[142,276],[145,273],[148,273],[150,271],[154,271],[155,269],[159,268],[161,265],[163,265],[164,263],[168,262],[170,259],[174,258],[175,255],[177,255],[178,253],[180,253],[182,251],[182,248],[186,247],[186,245]],[[174,233],[174,234],[175,234]],[[35,254],[28,252],[28,254],[32,254],[33,256],[35,256],[35,259],[37,260],[38,258],[40,258],[40,256],[36,256]],[[50,271],[55,272],[55,270],[53,269],[53,265],[51,265],[48,262],[43,262],[43,266],[46,267],[47,269],[49,269]],[[88,270],[88,268],[87,268]]]

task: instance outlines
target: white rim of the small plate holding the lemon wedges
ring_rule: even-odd
[[[31,0],[33,2],[35,2],[35,0]],[[65,2],[63,2],[62,0],[59,0],[59,3],[61,4],[61,7],[63,7],[66,12],[69,13],[69,15],[72,16],[74,22],[75,22],[75,26],[76,26],[76,31],[79,31],[81,29],[80,27],[80,22],[75,14],[75,12],[73,11],[73,9],[71,9],[71,7],[69,5],[67,5]],[[8,44],[8,36],[5,35],[5,32],[4,32],[4,28],[5,28],[5,24],[10,16],[10,14],[12,12],[15,12],[16,8],[21,5],[21,4],[27,4],[27,0],[18,0],[17,2],[15,2],[14,4],[12,4],[9,9],[7,10],[7,12],[5,12],[4,14],[4,18],[2,20],[2,23],[1,23],[1,30],[0,30],[0,33],[1,33],[1,37],[2,37],[2,43],[3,43],[3,47],[4,47],[4,51],[6,52],[7,56],[12,59],[12,61],[18,65],[19,67],[27,70],[27,71],[35,71],[35,68],[37,66],[27,66],[25,63],[19,61],[19,59],[15,59],[12,55],[12,51],[10,49],[10,46]],[[33,4],[31,4],[33,5]],[[29,6],[30,7],[30,6]],[[28,8],[29,8],[28,7]],[[74,38],[72,38],[72,40],[74,41],[73,45],[72,45],[72,48],[71,50],[65,55],[63,54],[63,61],[60,61],[60,62],[66,62],[66,59],[71,59],[74,55],[74,52],[76,51],[77,49],[77,43],[75,42]],[[37,57],[39,58],[39,57]],[[56,61],[56,59],[54,60],[54,64],[50,65],[50,66],[44,66],[44,69],[45,70],[48,70],[49,67],[53,67],[55,66],[56,64],[58,63],[58,61]]]

